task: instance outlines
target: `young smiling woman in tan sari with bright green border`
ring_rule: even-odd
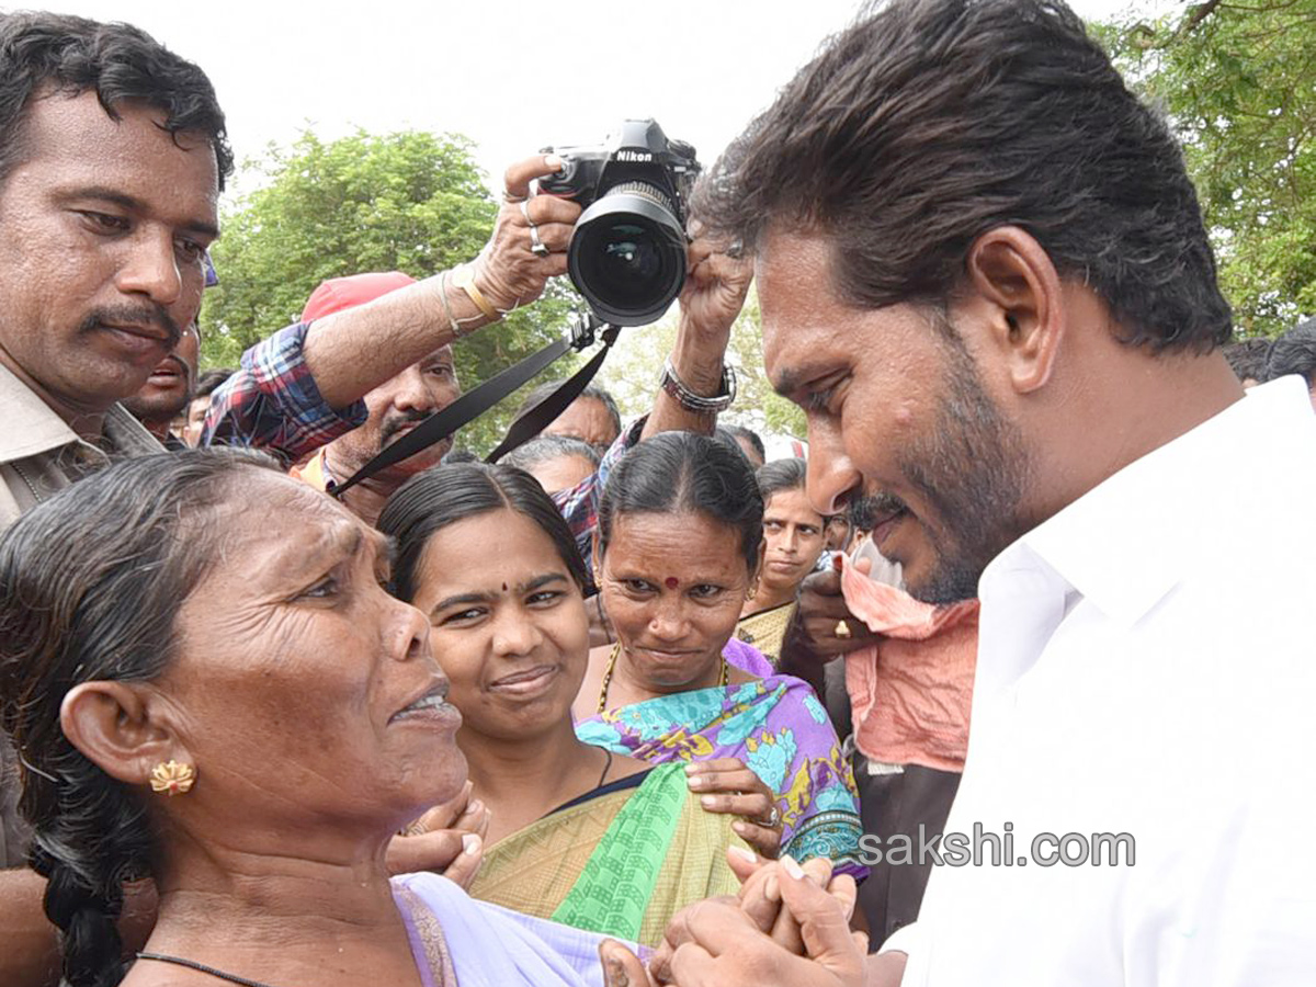
[[[471,895],[654,945],[683,905],[734,894],[732,816],[705,812],[680,766],[575,736],[587,572],[538,482],[437,467],[390,499],[379,529],[395,542],[395,592],[429,617],[462,713],[457,742],[490,808]]]

